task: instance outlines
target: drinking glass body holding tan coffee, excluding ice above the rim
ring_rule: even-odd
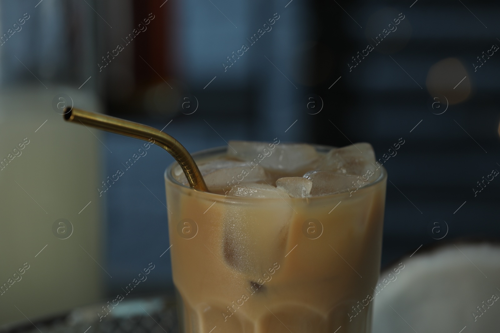
[[[199,165],[226,149],[193,157]],[[165,170],[165,188],[180,332],[370,331],[383,167],[374,165],[375,180],[356,191],[253,198],[195,191],[175,179],[176,166]]]

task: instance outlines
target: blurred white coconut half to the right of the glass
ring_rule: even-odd
[[[399,262],[373,301],[373,333],[498,332],[500,246],[457,242]]]

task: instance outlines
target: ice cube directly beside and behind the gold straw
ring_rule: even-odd
[[[213,160],[201,163],[198,166],[208,189],[229,190],[229,185],[237,183],[252,183],[268,179],[265,170],[260,166],[251,168],[247,163],[230,160]],[[187,185],[184,174],[174,169],[175,178],[182,184]],[[179,167],[180,169],[180,167]],[[182,171],[182,170],[180,170]],[[229,184],[228,184],[229,183]]]

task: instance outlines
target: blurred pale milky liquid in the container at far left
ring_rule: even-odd
[[[61,92],[79,108],[101,109],[83,90],[0,93],[0,326],[94,303],[103,277],[110,279],[99,267],[103,202],[96,190],[101,151],[109,152],[97,130],[64,122],[52,109]]]

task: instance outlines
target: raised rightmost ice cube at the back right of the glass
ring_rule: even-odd
[[[373,163],[373,164],[371,164]],[[330,150],[316,168],[347,175],[363,176],[369,170],[375,171],[375,154],[369,143],[359,142]]]

